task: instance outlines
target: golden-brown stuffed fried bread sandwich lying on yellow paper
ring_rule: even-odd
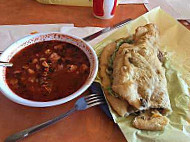
[[[138,129],[163,130],[168,123],[164,115],[172,110],[159,58],[159,31],[154,24],[147,24],[136,29],[133,42],[128,38],[109,44],[101,54],[100,77],[106,98],[120,116],[163,109],[159,118],[148,116],[143,120],[140,115],[133,121]]]

